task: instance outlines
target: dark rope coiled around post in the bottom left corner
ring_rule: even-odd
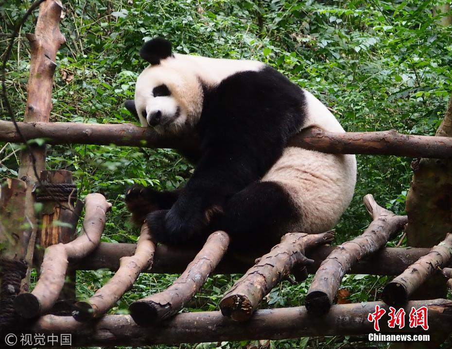
[[[17,321],[14,299],[26,273],[27,265],[23,261],[0,257],[0,332]]]

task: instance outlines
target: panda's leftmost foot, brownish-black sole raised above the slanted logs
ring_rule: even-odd
[[[132,213],[132,221],[143,224],[147,214],[159,209],[157,192],[140,185],[134,185],[125,192],[125,203]]]

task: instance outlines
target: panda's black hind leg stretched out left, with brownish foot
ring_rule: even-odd
[[[151,212],[168,210],[177,200],[179,191],[156,191],[149,187],[134,185],[125,192],[125,203],[132,213],[132,221],[141,225]]]

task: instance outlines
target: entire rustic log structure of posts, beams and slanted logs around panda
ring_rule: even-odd
[[[121,146],[196,147],[189,136],[167,139],[134,125],[49,123],[55,55],[64,43],[59,31],[62,4],[41,1],[35,34],[29,34],[32,60],[24,122],[0,121],[0,141],[23,142],[46,138],[48,144],[117,144]],[[452,101],[452,100],[451,100]],[[452,159],[451,113],[448,108],[441,136],[376,133],[323,133],[309,130],[292,145],[333,153],[393,154]],[[371,195],[364,203],[372,222],[365,232],[341,246],[325,246],[333,232],[318,235],[288,233],[264,256],[237,258],[227,252],[227,232],[209,236],[200,251],[156,246],[146,227],[135,244],[101,243],[105,213],[111,207],[100,194],[85,199],[83,233],[75,226],[83,203],[75,202],[75,186],[68,171],[45,171],[45,148],[28,146],[21,156],[19,179],[2,183],[0,192],[0,331],[72,333],[73,346],[151,345],[223,340],[282,339],[317,335],[351,335],[375,332],[367,318],[376,306],[410,310],[428,309],[429,330],[400,330],[382,321],[381,332],[429,333],[437,345],[452,329],[452,301],[410,300],[428,278],[447,268],[452,258],[452,235],[444,232],[437,246],[385,248],[386,242],[410,223],[410,216],[396,216],[379,206]],[[452,181],[452,178],[450,178]],[[35,216],[34,202],[43,209]],[[70,225],[56,225],[53,221]],[[39,224],[37,224],[39,222]],[[35,249],[35,240],[46,248]],[[28,271],[33,256],[41,254],[40,278],[28,292]],[[258,258],[254,261],[255,258]],[[25,263],[24,263],[25,262]],[[75,302],[74,270],[108,268],[116,274],[86,301]],[[140,272],[181,273],[167,290],[134,302],[131,315],[105,315],[132,286]],[[244,273],[220,302],[221,311],[179,313],[211,273]],[[315,273],[306,306],[256,310],[263,297],[293,274],[296,282]],[[334,305],[346,273],[397,276],[388,283],[383,300],[366,304]],[[22,286],[19,292],[19,283]],[[446,281],[446,279],[444,280]],[[58,307],[70,300],[70,309]],[[429,344],[429,345],[430,345]]]

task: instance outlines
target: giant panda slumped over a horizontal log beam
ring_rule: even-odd
[[[149,66],[128,109],[143,127],[199,140],[183,189],[126,192],[134,220],[157,241],[199,245],[224,230],[234,249],[264,251],[285,233],[322,233],[338,222],[353,196],[355,156],[287,146],[310,127],[344,132],[310,92],[261,62],[178,54],[162,38],[139,53]]]

